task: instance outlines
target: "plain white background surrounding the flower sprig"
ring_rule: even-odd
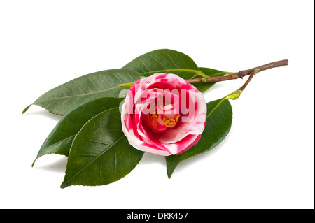
[[[314,208],[314,1],[0,1],[0,208]],[[167,178],[145,154],[125,178],[60,189],[66,157],[31,163],[59,117],[25,106],[151,50],[240,71],[280,59],[231,101],[230,134]],[[244,80],[218,83],[219,99]]]

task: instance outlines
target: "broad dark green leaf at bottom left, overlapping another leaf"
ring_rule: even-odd
[[[115,182],[130,173],[143,154],[128,143],[119,109],[106,110],[88,121],[74,138],[61,187]]]

